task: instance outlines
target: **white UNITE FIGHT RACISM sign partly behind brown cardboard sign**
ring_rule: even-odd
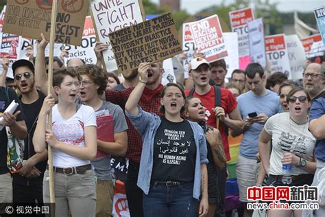
[[[107,71],[117,70],[108,34],[143,22],[141,5],[138,0],[95,0],[91,3],[91,11],[98,40],[108,44],[108,49],[103,52],[104,65]]]

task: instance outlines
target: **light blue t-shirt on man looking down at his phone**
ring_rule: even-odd
[[[245,120],[249,113],[253,112],[256,112],[258,115],[265,113],[267,117],[282,112],[278,95],[269,90],[264,95],[255,95],[252,91],[248,91],[239,95],[237,101],[243,120]],[[241,139],[239,155],[248,159],[255,159],[255,155],[258,152],[258,137],[263,130],[263,126],[263,124],[254,123],[245,130],[243,139]]]

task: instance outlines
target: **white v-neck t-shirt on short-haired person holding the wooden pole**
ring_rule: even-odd
[[[52,114],[52,130],[58,141],[64,142],[67,146],[85,146],[84,128],[96,126],[95,111],[91,106],[81,105],[72,117],[64,119],[58,111],[58,104],[56,104],[53,106]],[[53,165],[56,167],[68,168],[89,163],[91,161],[78,159],[53,148]]]

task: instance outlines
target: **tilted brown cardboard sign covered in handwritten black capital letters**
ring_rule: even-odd
[[[171,13],[109,34],[119,72],[141,62],[158,62],[182,52]]]

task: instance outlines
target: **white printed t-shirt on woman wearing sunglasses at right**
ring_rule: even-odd
[[[272,135],[272,152],[269,161],[269,174],[282,175],[282,157],[291,152],[308,161],[314,161],[313,150],[316,139],[308,130],[309,123],[296,124],[288,113],[280,113],[270,117],[265,123],[265,130]],[[305,170],[292,166],[291,174],[308,174]]]

